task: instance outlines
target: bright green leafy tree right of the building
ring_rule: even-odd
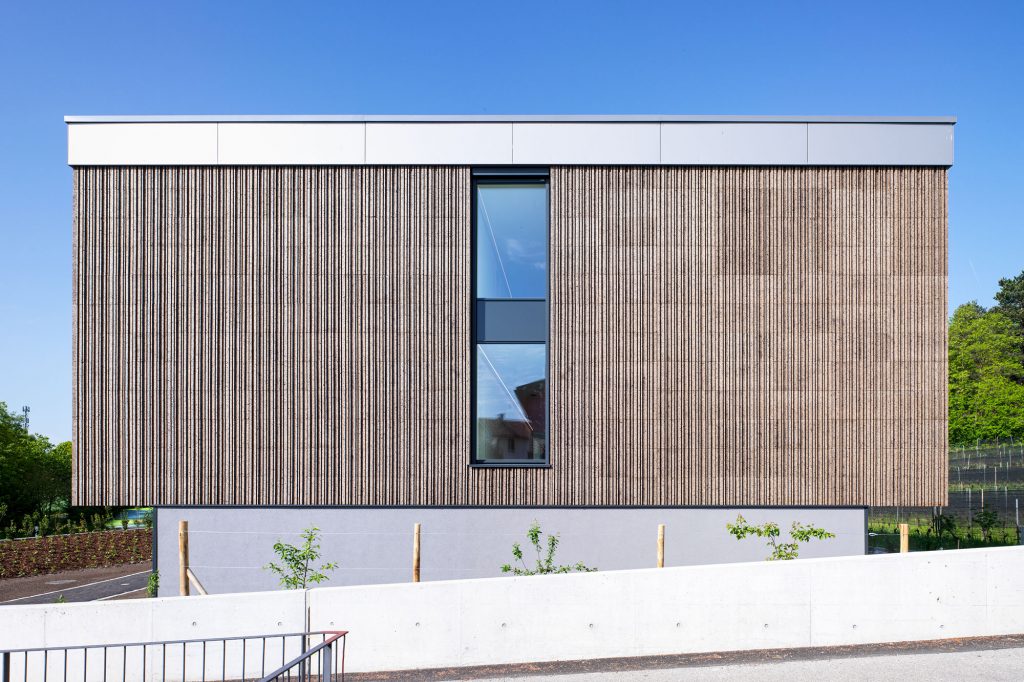
[[[949,442],[1024,436],[1024,332],[975,302],[949,322]]]

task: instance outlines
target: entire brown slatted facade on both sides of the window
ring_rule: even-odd
[[[76,169],[76,504],[944,504],[944,169],[552,168],[544,469],[469,467],[470,193]]]

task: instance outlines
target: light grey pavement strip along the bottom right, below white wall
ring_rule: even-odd
[[[956,651],[946,653],[897,653],[857,658],[826,658],[823,660],[784,660],[781,663],[670,668],[664,670],[615,673],[584,673],[582,675],[539,675],[486,680],[546,680],[548,682],[611,682],[638,680],[642,682],[675,682],[679,680],[757,680],[758,682],[934,682],[936,680],[1024,679],[1024,648],[989,651]]]

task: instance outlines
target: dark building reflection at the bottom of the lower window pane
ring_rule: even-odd
[[[545,381],[539,379],[516,386],[515,396],[520,411],[518,419],[507,419],[506,413],[476,420],[477,457],[485,460],[542,460],[547,430]],[[522,419],[525,415],[526,419]],[[528,421],[527,421],[528,420]]]

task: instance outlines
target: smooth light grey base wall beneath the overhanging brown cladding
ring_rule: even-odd
[[[526,540],[535,520],[560,538],[557,563],[583,561],[600,570],[647,568],[656,562],[658,523],[666,524],[666,565],[764,559],[757,538],[737,541],[726,523],[742,514],[752,523],[813,523],[836,538],[814,541],[802,558],[863,554],[865,510],[857,509],[495,509],[495,508],[160,508],[157,564],[161,596],[178,593],[179,520],[189,526],[193,570],[211,594],[280,589],[263,566],[276,560],[273,544],[299,545],[305,527],[321,528],[322,561],[336,561],[327,587],[412,580],[413,525],[422,524],[421,579],[444,581],[501,576],[512,544],[536,557]]]

